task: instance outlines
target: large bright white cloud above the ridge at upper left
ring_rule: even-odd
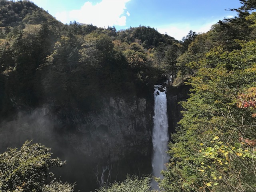
[[[130,0],[102,0],[95,5],[85,2],[79,10],[57,12],[55,17],[63,23],[76,20],[84,24],[93,24],[98,27],[125,26],[124,10]],[[130,13],[126,12],[129,16]]]

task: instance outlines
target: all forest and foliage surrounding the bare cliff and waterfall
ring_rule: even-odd
[[[255,192],[256,0],[240,3],[234,18],[178,41],[150,26],[65,25],[28,0],[0,0],[0,122],[44,105],[61,117],[97,112],[108,97],[148,97],[171,77],[168,89],[191,89],[163,179],[154,178],[159,190]],[[9,148],[0,191],[74,191],[48,172],[64,164],[42,144]],[[149,192],[150,179],[128,176],[96,191]]]

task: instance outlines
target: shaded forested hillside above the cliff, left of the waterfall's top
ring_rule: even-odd
[[[159,62],[179,42],[154,28],[63,25],[32,2],[0,4],[2,118],[43,104],[98,110],[102,95],[146,95],[170,73]]]

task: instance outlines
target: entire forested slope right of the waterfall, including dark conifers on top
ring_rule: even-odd
[[[196,36],[178,58],[192,89],[163,191],[256,191],[256,1],[240,2],[237,17]]]

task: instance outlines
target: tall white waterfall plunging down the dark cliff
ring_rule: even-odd
[[[154,91],[154,127],[152,134],[153,156],[152,170],[153,176],[162,178],[161,170],[165,169],[168,162],[168,118],[167,118],[167,98],[166,87],[161,85],[155,86]],[[152,188],[158,189],[157,183],[152,182]]]

